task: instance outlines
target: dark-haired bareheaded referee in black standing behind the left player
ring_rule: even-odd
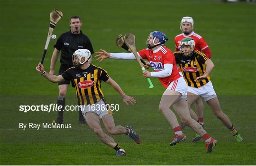
[[[84,35],[81,31],[82,21],[78,16],[73,16],[69,20],[70,31],[60,35],[54,47],[55,50],[51,59],[50,66],[50,74],[55,74],[55,63],[58,59],[59,52],[61,51],[60,57],[60,69],[59,75],[64,73],[67,69],[73,67],[72,55],[78,49],[88,49],[91,54],[94,53],[90,39]],[[70,80],[65,80],[63,82],[58,83],[59,87],[59,96],[57,100],[58,105],[62,105],[62,108],[65,107],[65,96],[67,93],[68,86],[70,84]],[[72,82],[72,87],[74,87]],[[80,104],[79,104],[80,105]],[[55,122],[58,124],[63,124],[63,113],[62,111],[58,111],[58,117]],[[85,124],[82,112],[79,111],[79,124]]]

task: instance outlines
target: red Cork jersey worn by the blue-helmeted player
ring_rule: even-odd
[[[176,69],[176,61],[173,52],[165,46],[161,46],[155,51],[146,48],[139,51],[138,53],[143,59],[146,59],[150,62],[150,65],[155,72],[164,70],[164,65],[167,63],[173,64],[171,76],[158,78],[165,88],[167,88],[171,82],[181,77],[181,75],[178,73],[178,70]]]

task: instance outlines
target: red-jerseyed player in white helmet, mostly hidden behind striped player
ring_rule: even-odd
[[[182,51],[180,42],[182,39],[186,37],[192,37],[195,41],[195,50],[199,50],[204,52],[204,54],[210,59],[211,58],[211,52],[208,44],[205,42],[204,38],[201,35],[196,34],[194,29],[194,20],[192,17],[183,17],[180,23],[180,29],[182,31],[182,34],[176,35],[174,38],[175,41],[175,51]],[[181,69],[178,68],[179,73],[181,73]],[[203,103],[201,98],[198,98],[198,100],[195,102],[195,108],[198,112],[198,116],[196,114],[191,114],[192,118],[195,119],[197,122],[201,124],[201,126],[204,125],[203,122]],[[197,118],[198,117],[198,118]],[[181,123],[181,128],[183,129],[185,125]],[[201,139],[201,136],[196,134],[196,137],[192,139],[192,141],[198,141]]]

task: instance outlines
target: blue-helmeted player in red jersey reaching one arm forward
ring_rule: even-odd
[[[164,114],[167,121],[174,130],[174,140],[170,143],[171,146],[186,139],[185,134],[181,131],[179,123],[175,114],[170,107],[182,119],[183,123],[190,126],[194,131],[202,136],[206,142],[206,151],[210,153],[217,141],[210,137],[210,135],[203,130],[201,125],[193,120],[189,114],[188,104],[186,102],[187,86],[183,77],[179,75],[176,69],[174,54],[172,51],[164,46],[167,41],[164,33],[159,31],[151,32],[147,38],[147,48],[138,52],[140,59],[146,59],[155,70],[154,72],[144,71],[143,75],[147,77],[158,77],[160,82],[166,88],[159,105],[159,110]],[[104,60],[106,58],[114,59],[136,59],[133,53],[109,53],[104,50],[96,57],[97,60]]]

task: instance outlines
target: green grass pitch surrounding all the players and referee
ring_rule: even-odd
[[[49,5],[50,4],[50,5]],[[82,31],[94,50],[123,52],[115,45],[118,34],[136,35],[137,50],[146,47],[149,32],[163,31],[166,46],[174,50],[174,36],[181,33],[183,16],[192,16],[195,32],[210,46],[215,68],[211,73],[223,111],[243,136],[237,143],[205,105],[206,130],[219,141],[211,154],[205,143],[192,143],[194,132],[185,128],[188,140],[170,147],[173,131],[158,111],[165,88],[158,79],[148,89],[137,61],[105,60],[103,67],[123,90],[135,96],[137,105],[125,106],[115,90],[102,83],[107,101],[120,105],[114,112],[118,125],[131,125],[142,143],[134,145],[125,135],[113,138],[127,151],[115,151],[97,138],[87,125],[77,124],[78,114],[65,112],[72,129],[19,129],[19,123],[51,122],[55,112],[19,111],[19,105],[49,105],[56,102],[57,85],[42,78],[35,66],[41,60],[49,26],[49,12],[60,9],[64,17],[55,27],[59,36],[68,31],[68,19],[82,17]],[[219,1],[0,1],[0,165],[256,165],[256,4]],[[49,70],[54,41],[44,62]],[[55,70],[59,67],[56,64]],[[77,103],[69,88],[67,105]]]

